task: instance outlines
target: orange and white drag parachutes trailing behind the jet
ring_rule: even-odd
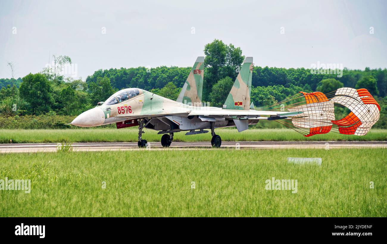
[[[301,103],[298,102],[286,107],[290,112],[302,111],[303,113],[292,116],[292,124],[278,122],[288,127],[293,125],[293,129],[304,136],[325,134],[333,128],[340,134],[364,136],[379,119],[380,106],[366,89],[339,88],[334,95],[330,94],[333,95],[331,98],[319,91],[300,93],[303,94],[301,97],[305,98],[303,102],[305,104],[298,105]],[[295,98],[290,98],[288,101],[293,99]],[[335,104],[347,107],[351,112],[337,120],[334,113]]]

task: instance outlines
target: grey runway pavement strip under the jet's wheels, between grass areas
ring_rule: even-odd
[[[211,142],[172,142],[168,148],[163,148],[160,142],[148,142],[147,149],[171,150],[171,149],[212,149]],[[118,150],[146,150],[139,148],[137,142],[94,142],[72,143],[73,151],[118,151]],[[56,152],[60,144],[56,143],[22,143],[0,144],[0,153],[9,152]],[[222,142],[221,148],[235,149],[333,149],[333,148],[386,148],[387,141],[244,141]],[[220,149],[221,149],[220,148]],[[219,149],[214,149],[219,150]]]

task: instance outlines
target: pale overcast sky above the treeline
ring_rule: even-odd
[[[387,1],[0,0],[0,78],[9,61],[17,77],[37,73],[50,54],[70,56],[83,80],[98,69],[187,67],[214,39],[255,66],[386,68],[386,13]]]

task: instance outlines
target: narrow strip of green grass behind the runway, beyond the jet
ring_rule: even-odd
[[[149,142],[160,141],[161,135],[155,130],[145,129],[143,138]],[[304,137],[291,129],[216,129],[223,141],[387,141],[387,130],[371,129],[366,136],[343,135],[334,132]],[[0,143],[41,143],[41,142],[137,142],[137,127],[124,129],[0,129]],[[211,133],[185,136],[175,133],[174,141],[211,141]]]

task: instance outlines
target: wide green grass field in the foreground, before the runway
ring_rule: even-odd
[[[32,183],[31,193],[0,191],[1,217],[387,217],[385,149],[223,149],[216,154],[213,149],[144,149],[0,157],[0,179]],[[287,157],[320,157],[322,165],[290,164]],[[297,193],[265,190],[272,177],[297,180]]]

